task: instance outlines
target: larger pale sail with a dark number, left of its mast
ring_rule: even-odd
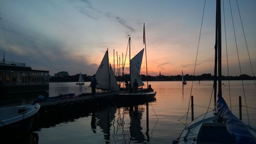
[[[109,89],[109,58],[108,51],[106,51],[100,66],[95,74],[95,78],[97,80],[96,88],[98,89]]]

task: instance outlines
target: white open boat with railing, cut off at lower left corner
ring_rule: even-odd
[[[34,119],[38,118],[40,104],[10,105],[0,107],[1,141],[19,138],[29,132]]]

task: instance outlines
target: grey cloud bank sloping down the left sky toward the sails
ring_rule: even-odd
[[[7,25],[7,24],[6,24]],[[35,70],[48,70],[53,75],[59,71],[68,71],[74,75],[82,71],[84,74],[93,74],[97,70],[98,64],[90,64],[85,59],[85,55],[73,55],[65,47],[66,43],[59,39],[52,39],[47,35],[15,29],[6,29],[6,37],[9,40],[12,60],[14,62],[24,62],[26,66]],[[6,61],[12,61],[6,47],[5,41],[0,41],[0,55],[5,51]]]

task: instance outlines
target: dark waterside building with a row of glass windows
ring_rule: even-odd
[[[49,71],[32,70],[25,63],[0,61],[0,94],[49,90]]]

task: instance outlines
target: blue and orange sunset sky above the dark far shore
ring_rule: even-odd
[[[238,7],[231,1],[242,74],[252,75]],[[254,74],[256,73],[256,1],[237,0]],[[215,4],[206,0],[196,75],[212,73],[215,44]],[[229,73],[240,75],[229,1],[224,1]],[[143,45],[145,23],[148,75],[192,75],[204,0],[2,0],[0,59],[24,62],[54,75],[93,75],[109,48],[125,57],[129,36],[133,57]],[[223,10],[222,22],[224,23]],[[222,26],[223,75],[227,75],[225,28]],[[127,59],[129,60],[129,59]],[[126,60],[126,63],[127,63]],[[145,53],[141,74],[146,74]],[[116,64],[116,62],[115,62]],[[112,66],[113,67],[113,66]],[[116,68],[116,66],[115,66]],[[117,73],[117,72],[115,72]],[[126,70],[125,73],[128,73]]]

